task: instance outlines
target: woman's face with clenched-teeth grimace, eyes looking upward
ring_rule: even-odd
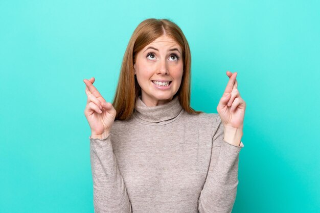
[[[148,107],[167,103],[181,84],[184,70],[181,47],[163,35],[138,52],[133,67],[142,101]]]

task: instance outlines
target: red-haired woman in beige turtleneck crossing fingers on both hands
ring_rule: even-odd
[[[84,79],[95,212],[231,212],[246,104],[230,78],[218,114],[190,107],[190,49],[168,19],[127,46],[113,103]]]

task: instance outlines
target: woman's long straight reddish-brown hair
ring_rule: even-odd
[[[201,113],[190,107],[191,53],[184,33],[169,19],[149,18],[136,27],[125,51],[117,91],[112,103],[117,111],[115,120],[132,118],[135,101],[141,95],[141,87],[135,78],[133,69],[136,55],[145,46],[164,34],[174,39],[182,48],[184,72],[179,90],[174,96],[178,96],[182,109],[189,114]]]

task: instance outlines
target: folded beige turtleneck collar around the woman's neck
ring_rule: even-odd
[[[175,96],[170,102],[147,107],[141,100],[141,95],[136,99],[134,118],[141,123],[149,125],[164,125],[177,119],[182,114],[179,97]]]

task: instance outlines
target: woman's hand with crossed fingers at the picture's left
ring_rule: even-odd
[[[111,126],[116,118],[116,110],[112,103],[106,102],[99,91],[94,87],[95,78],[83,80],[85,93],[87,94],[87,104],[84,115],[91,128],[91,137],[103,138],[110,132]]]

